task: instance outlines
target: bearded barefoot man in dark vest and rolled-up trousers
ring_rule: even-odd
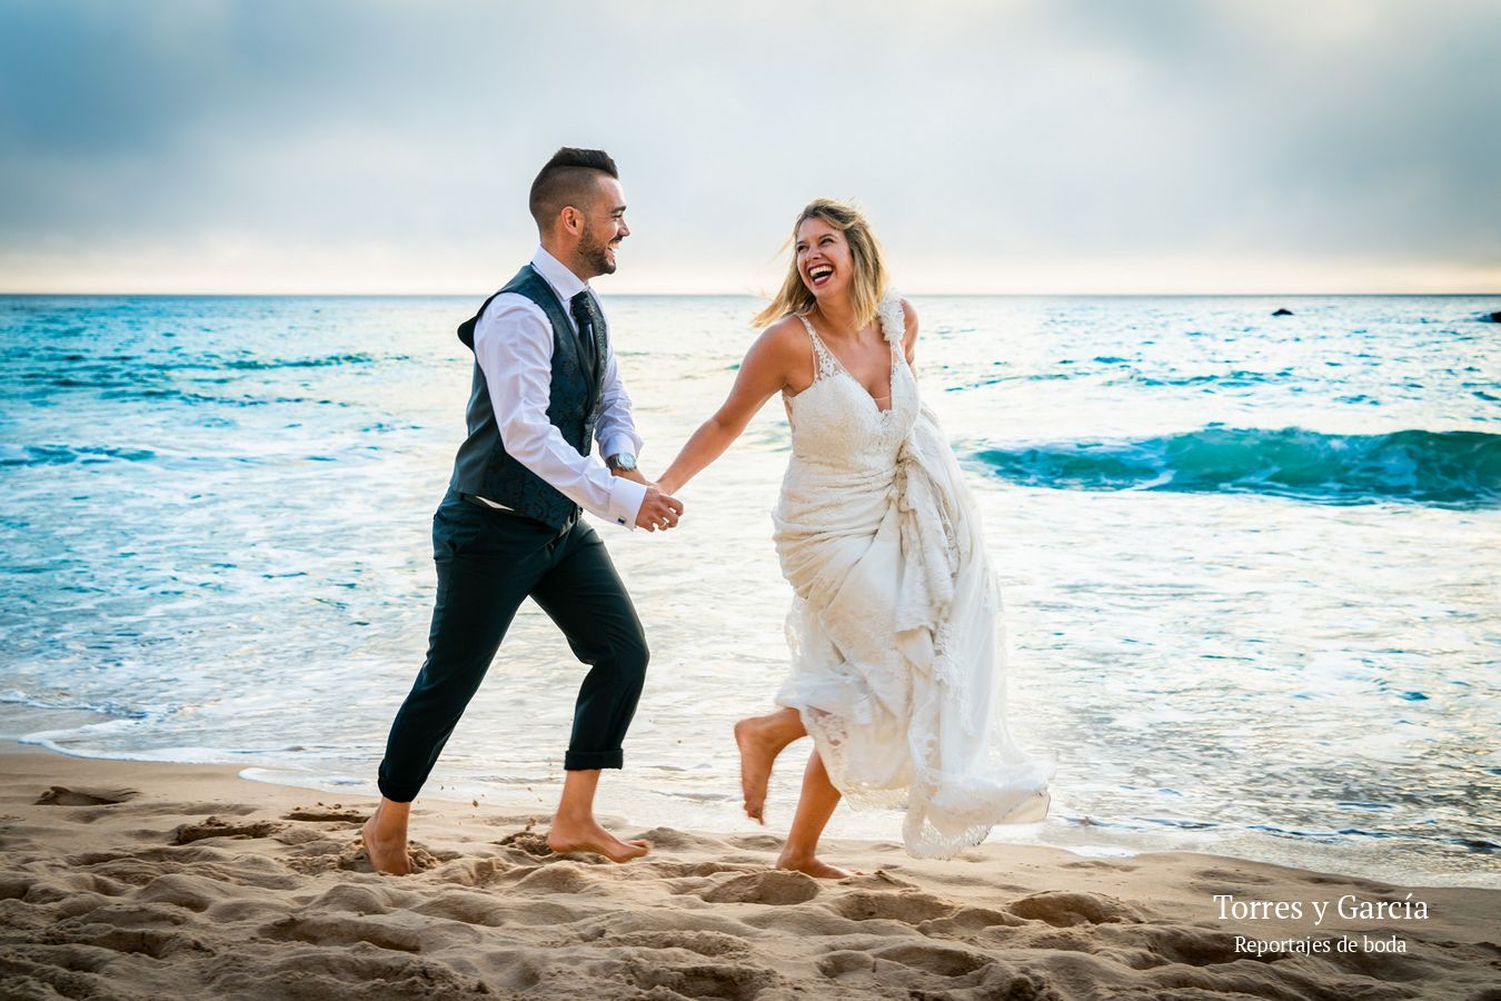
[[[558,150],[531,183],[530,209],[542,246],[459,327],[474,351],[468,438],[432,518],[438,593],[428,659],[392,723],[380,807],[362,830],[380,872],[411,872],[411,801],[527,597],[590,665],[548,845],[614,861],[648,848],[594,819],[600,770],[621,767],[647,644],[605,543],[579,519],[582,507],[656,531],[675,527],[683,513],[636,471],[641,438],[630,398],[588,287],[615,272],[615,248],[630,236],[615,162],[603,150]],[[590,438],[605,465],[590,458]]]

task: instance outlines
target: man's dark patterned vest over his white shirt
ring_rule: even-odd
[[[530,264],[516,272],[495,296],[516,293],[525,296],[546,314],[552,324],[552,386],[548,398],[548,420],[563,440],[590,453],[594,425],[599,420],[599,396],[605,381],[605,356],[609,342],[603,329],[596,332],[594,363],[588,365],[590,353],[584,350],[573,324],[569,321],[567,305],[558,302],[557,293]],[[474,326],[489,306],[491,296],[470,320],[459,326],[459,341],[474,350]],[[546,480],[506,453],[495,426],[495,411],[489,405],[489,386],[479,362],[474,362],[474,381],[470,389],[468,437],[453,458],[453,479],[449,486],[461,494],[477,494],[497,504],[512,507],[552,528],[578,512],[578,504],[560,494]]]

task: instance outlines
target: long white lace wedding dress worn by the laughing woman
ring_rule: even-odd
[[[904,806],[907,849],[953,855],[995,824],[1048,813],[1052,765],[1006,729],[1000,588],[980,518],[902,353],[901,300],[880,324],[892,407],[803,320],[812,386],[787,398],[793,458],[773,513],[799,710],[856,806]]]

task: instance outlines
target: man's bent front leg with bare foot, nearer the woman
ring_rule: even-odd
[[[563,768],[563,797],[548,845],[593,851],[614,861],[644,855],[647,842],[624,842],[594,819],[600,768],[620,768],[621,743],[641,698],[647,642],[641,620],[594,530],[575,524],[560,560],[531,590],[573,654],[590,665],[573,707],[573,735]]]

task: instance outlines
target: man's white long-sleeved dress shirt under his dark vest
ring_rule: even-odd
[[[569,300],[588,287],[540,246],[531,257],[531,267],[552,287],[569,324],[575,324]],[[591,456],[579,455],[548,420],[552,324],[542,308],[519,293],[495,296],[474,324],[474,359],[485,372],[489,405],[506,452],[584,510],[635,528],[647,488],[614,476]],[[603,456],[621,452],[641,455],[641,438],[630,420],[630,396],[620,381],[614,348],[605,356],[594,440]]]

